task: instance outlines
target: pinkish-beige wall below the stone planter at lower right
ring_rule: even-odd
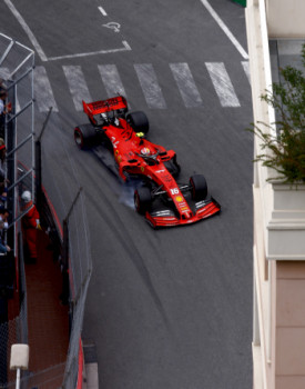
[[[276,262],[276,389],[305,388],[305,262]]]

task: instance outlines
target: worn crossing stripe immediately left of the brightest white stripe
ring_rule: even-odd
[[[170,63],[186,108],[201,107],[202,99],[187,63]]]

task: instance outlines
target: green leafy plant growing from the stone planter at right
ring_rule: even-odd
[[[302,50],[302,63],[305,70],[305,44]],[[276,136],[264,122],[252,124],[250,129],[261,140],[262,153],[255,161],[275,169],[284,182],[305,182],[305,77],[291,66],[279,69],[283,81],[273,83],[273,91],[266,91],[261,99],[275,109]]]

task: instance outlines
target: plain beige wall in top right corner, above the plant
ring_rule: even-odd
[[[305,38],[304,0],[266,0],[270,38]]]

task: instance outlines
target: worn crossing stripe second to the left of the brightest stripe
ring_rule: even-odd
[[[157,78],[151,63],[134,64],[140,84],[142,87],[146,103],[151,109],[165,109],[166,103],[163,98]]]

